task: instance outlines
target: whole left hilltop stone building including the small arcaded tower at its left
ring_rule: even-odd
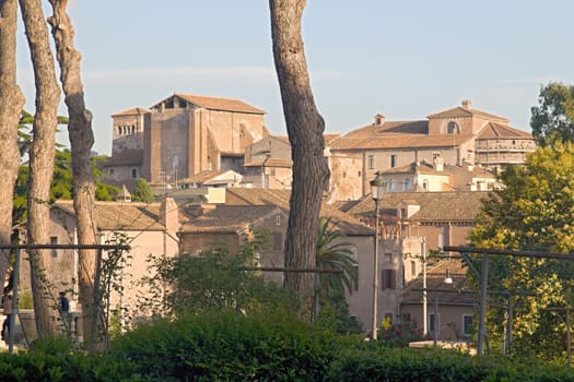
[[[150,109],[113,118],[113,152],[105,174],[115,182],[133,176],[175,187],[207,170],[244,172],[245,150],[269,135],[265,111],[238,99],[176,93]]]

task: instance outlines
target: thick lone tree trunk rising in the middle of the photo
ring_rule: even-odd
[[[329,168],[324,156],[325,121],[311,89],[301,35],[305,0],[270,0],[273,57],[293,158],[293,186],[285,238],[285,267],[315,268],[319,210]],[[306,297],[311,312],[313,273],[285,273],[284,285]]]

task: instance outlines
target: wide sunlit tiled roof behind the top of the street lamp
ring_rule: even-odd
[[[449,192],[388,192],[385,193],[380,208],[396,212],[402,200],[412,200],[421,210],[409,220],[414,222],[475,222],[482,207],[482,200],[488,196],[485,191],[449,191]],[[371,195],[364,196],[349,214],[353,216],[370,216],[375,211],[375,202]]]

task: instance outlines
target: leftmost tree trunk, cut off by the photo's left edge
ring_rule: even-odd
[[[10,244],[14,184],[20,166],[17,123],[24,95],[16,85],[17,0],[0,0],[0,244]],[[3,285],[9,252],[0,253]]]

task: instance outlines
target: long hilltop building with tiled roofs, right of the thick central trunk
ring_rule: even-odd
[[[522,164],[536,150],[531,134],[508,126],[508,119],[461,106],[427,116],[426,120],[387,121],[376,115],[372,124],[329,143],[330,199],[358,200],[370,192],[376,171],[429,163],[440,156],[448,166],[482,166],[489,170]]]

